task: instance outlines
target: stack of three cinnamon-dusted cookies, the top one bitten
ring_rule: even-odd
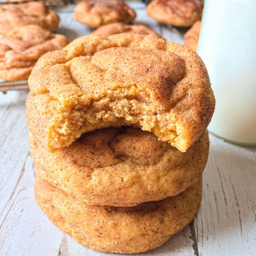
[[[192,221],[215,107],[192,50],[88,35],[41,57],[29,86],[34,192],[57,227],[99,251],[138,253]]]

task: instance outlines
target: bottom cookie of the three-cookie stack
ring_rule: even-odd
[[[113,253],[155,249],[192,221],[202,200],[202,182],[179,195],[135,207],[90,206],[36,175],[36,202],[49,220],[78,243]]]

